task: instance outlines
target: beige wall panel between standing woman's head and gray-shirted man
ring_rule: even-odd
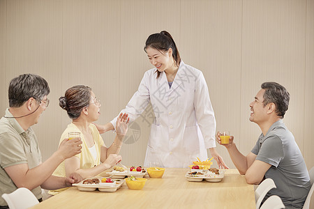
[[[217,130],[238,137],[242,1],[182,1],[181,13],[181,57],[204,74]],[[227,150],[219,145],[217,150],[232,166]]]

